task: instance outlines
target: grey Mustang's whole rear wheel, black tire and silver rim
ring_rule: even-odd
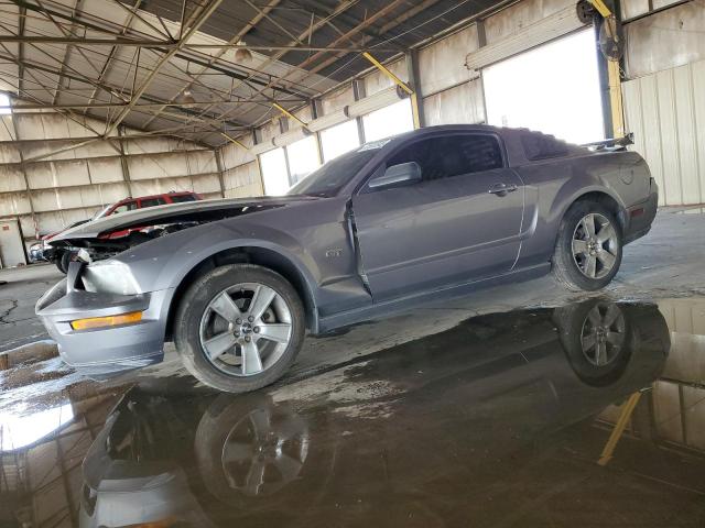
[[[592,234],[586,231],[589,218]],[[604,288],[619,271],[622,240],[621,226],[605,206],[590,200],[573,204],[558,228],[552,258],[554,277],[571,292]],[[583,250],[574,255],[574,251]]]

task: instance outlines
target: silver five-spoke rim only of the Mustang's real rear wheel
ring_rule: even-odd
[[[583,217],[573,232],[573,260],[588,278],[603,278],[617,262],[619,240],[609,219],[599,212]]]

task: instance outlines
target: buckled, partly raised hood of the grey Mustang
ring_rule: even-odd
[[[267,209],[288,207],[293,204],[312,201],[310,196],[283,196],[259,198],[234,198],[170,204],[137,209],[93,220],[56,235],[52,242],[105,238],[117,231],[144,229],[151,226],[172,223],[204,223],[260,212]]]

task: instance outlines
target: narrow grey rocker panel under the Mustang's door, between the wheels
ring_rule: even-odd
[[[500,284],[517,283],[521,280],[538,278],[543,275],[546,275],[550,271],[551,271],[551,263],[545,262],[534,266],[514,270],[510,273],[507,273],[505,275],[499,275],[496,277],[489,277],[489,278],[482,278],[479,280],[471,280],[468,283],[456,284],[456,285],[446,286],[444,288],[430,290],[430,292],[420,292],[405,297],[400,297],[397,299],[378,302],[369,307],[357,308],[355,310],[349,310],[349,311],[343,311],[340,314],[335,314],[333,316],[321,318],[318,320],[318,324],[319,324],[318,333],[325,333],[330,330],[335,330],[336,328],[347,327],[349,324],[355,324],[357,322],[376,319],[382,316],[388,317],[388,316],[408,310],[415,306],[419,306],[421,302],[421,299],[423,299],[424,302],[429,300],[452,299],[454,297],[459,297],[463,295],[467,295],[471,292],[476,292],[478,289],[484,289],[491,286],[498,286]]]

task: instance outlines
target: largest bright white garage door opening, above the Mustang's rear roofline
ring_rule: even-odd
[[[572,143],[605,139],[595,34],[584,30],[482,69],[487,121]]]

